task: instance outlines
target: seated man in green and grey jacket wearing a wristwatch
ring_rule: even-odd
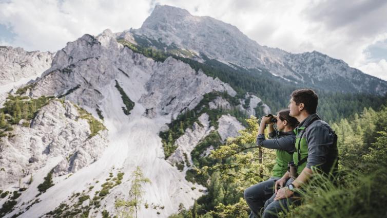
[[[317,94],[312,89],[298,89],[291,97],[289,115],[300,122],[296,128],[297,152],[293,154],[297,175],[292,175],[292,178],[287,172],[276,181],[276,193],[265,203],[262,215],[265,218],[277,217],[277,214],[286,211],[289,205],[299,204],[297,189],[302,188],[313,173],[330,175],[337,171],[337,136],[331,126],[316,114]]]

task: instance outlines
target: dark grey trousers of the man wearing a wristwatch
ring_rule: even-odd
[[[286,181],[286,185],[288,186],[293,182],[293,179],[288,179]],[[262,217],[263,218],[273,218],[277,217],[277,214],[279,212],[285,212],[289,209],[290,205],[299,205],[301,203],[300,195],[295,192],[292,197],[284,198],[279,201],[274,201],[274,198],[276,197],[276,194],[273,194],[272,197],[270,197],[266,203],[265,203],[265,209],[263,211]]]

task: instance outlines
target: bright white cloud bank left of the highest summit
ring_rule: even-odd
[[[17,34],[11,43],[26,50],[56,51],[83,34],[139,28],[148,16],[147,1],[14,0],[0,3],[0,23]]]

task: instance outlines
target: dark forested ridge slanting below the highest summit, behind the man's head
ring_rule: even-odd
[[[326,121],[334,122],[342,118],[349,118],[355,113],[361,113],[364,107],[372,107],[379,110],[380,106],[387,102],[387,95],[377,96],[364,93],[334,92],[316,87],[305,87],[302,83],[288,82],[275,77],[267,69],[246,69],[237,65],[226,65],[215,59],[209,59],[200,54],[203,63],[192,59],[191,56],[178,56],[177,48],[162,50],[166,45],[152,45],[145,39],[136,38],[138,45],[134,45],[124,39],[118,40],[121,44],[134,52],[144,54],[155,61],[163,62],[168,57],[183,61],[196,71],[202,70],[204,74],[213,78],[219,78],[228,83],[237,92],[237,98],[243,98],[246,93],[256,95],[267,104],[273,113],[286,108],[289,104],[289,96],[298,88],[313,88],[319,95],[318,113]],[[151,41],[152,43],[155,43]],[[159,49],[155,49],[159,48]],[[180,52],[184,53],[184,52]],[[263,116],[262,107],[257,107],[257,117]]]

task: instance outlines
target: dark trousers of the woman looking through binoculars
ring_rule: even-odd
[[[274,194],[274,185],[280,177],[272,177],[254,186],[247,188],[243,195],[248,207],[251,209],[249,218],[258,218],[265,201]]]

